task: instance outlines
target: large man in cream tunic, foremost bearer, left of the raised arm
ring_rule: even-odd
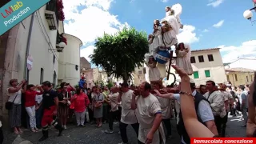
[[[138,110],[140,124],[138,130],[139,144],[165,143],[165,134],[162,127],[162,110],[158,98],[150,94],[151,86],[143,82],[140,86],[140,95],[137,101],[133,95],[131,108]],[[160,138],[161,137],[161,138]]]

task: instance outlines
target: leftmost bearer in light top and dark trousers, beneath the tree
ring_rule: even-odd
[[[110,89],[111,94],[108,95],[110,99],[110,115],[109,115],[109,128],[110,130],[105,130],[106,134],[113,134],[113,123],[116,118],[118,118],[118,87],[112,87]]]

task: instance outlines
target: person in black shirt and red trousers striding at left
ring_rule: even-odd
[[[42,138],[39,142],[42,142],[48,138],[48,127],[50,125],[54,126],[58,130],[58,136],[62,135],[62,126],[58,124],[57,120],[54,118],[58,110],[58,93],[51,89],[51,83],[46,81],[42,82],[42,89],[44,93],[42,94]]]

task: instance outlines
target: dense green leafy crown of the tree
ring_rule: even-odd
[[[136,66],[142,66],[148,52],[147,35],[134,28],[124,28],[117,34],[104,34],[97,38],[96,49],[90,55],[91,62],[102,66],[107,74],[127,81]]]

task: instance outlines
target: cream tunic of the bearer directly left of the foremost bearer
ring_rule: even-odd
[[[122,116],[121,122],[126,124],[137,123],[135,110],[131,109],[131,99],[133,98],[133,90],[128,90],[126,93],[122,93]]]

